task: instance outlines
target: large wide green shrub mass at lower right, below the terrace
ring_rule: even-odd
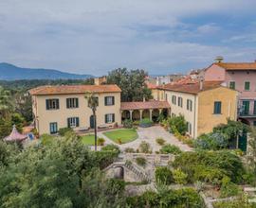
[[[231,182],[242,182],[245,173],[241,159],[228,150],[182,152],[173,166],[188,174],[190,182],[221,182],[224,176]]]

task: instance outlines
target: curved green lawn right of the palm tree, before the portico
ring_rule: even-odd
[[[137,130],[111,130],[103,133],[113,142],[120,144],[129,143],[137,139]],[[120,142],[119,142],[120,141]]]

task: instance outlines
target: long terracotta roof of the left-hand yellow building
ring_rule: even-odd
[[[84,93],[120,93],[118,85],[58,85],[41,86],[31,89],[31,95],[64,95],[64,94],[84,94]]]

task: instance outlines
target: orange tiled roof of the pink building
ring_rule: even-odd
[[[256,62],[215,62],[226,70],[256,70]]]

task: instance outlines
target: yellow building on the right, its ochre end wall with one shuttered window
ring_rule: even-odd
[[[156,100],[166,100],[171,116],[184,115],[188,134],[196,138],[215,126],[237,119],[238,92],[217,81],[193,84],[166,84],[158,88]]]

